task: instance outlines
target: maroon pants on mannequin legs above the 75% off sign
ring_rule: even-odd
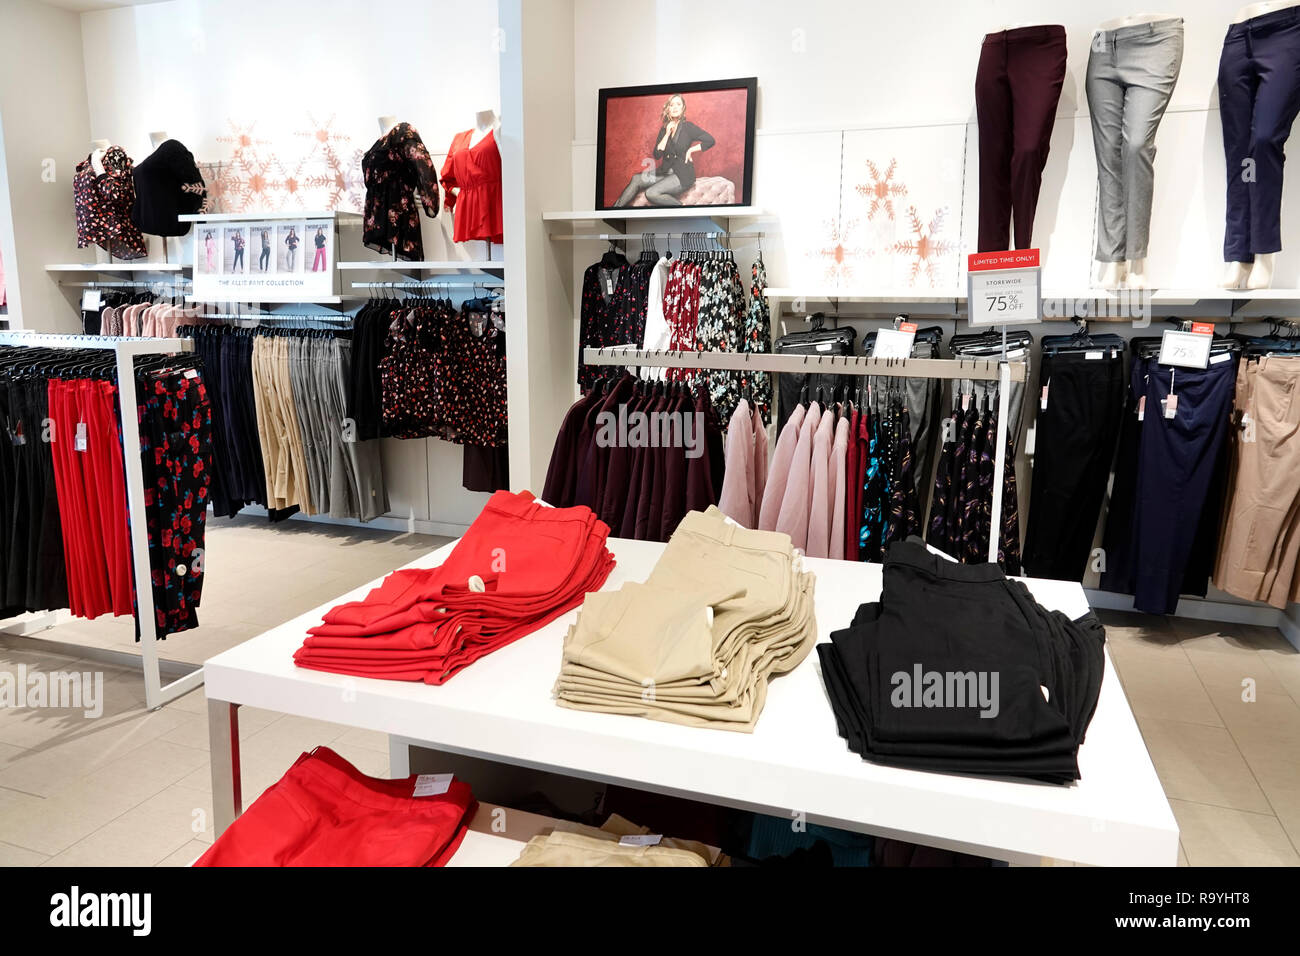
[[[979,120],[979,250],[1034,245],[1034,211],[1065,82],[1065,27],[988,34],[975,70]]]

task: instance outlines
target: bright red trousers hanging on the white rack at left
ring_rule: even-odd
[[[91,378],[51,378],[47,388],[69,607],[81,618],[131,614],[131,541],[117,388]]]

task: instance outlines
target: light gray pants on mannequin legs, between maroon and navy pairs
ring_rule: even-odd
[[[1098,30],[1088,56],[1097,151],[1097,260],[1144,259],[1150,233],[1156,130],[1183,64],[1183,21]]]

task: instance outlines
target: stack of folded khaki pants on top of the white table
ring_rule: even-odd
[[[750,732],[767,680],[816,643],[811,574],[786,535],[688,514],[644,584],[586,596],[560,706]]]

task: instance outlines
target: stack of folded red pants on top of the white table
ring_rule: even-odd
[[[330,609],[294,662],[441,684],[598,591],[614,568],[608,535],[588,507],[497,492],[442,564],[394,571],[361,601]]]

